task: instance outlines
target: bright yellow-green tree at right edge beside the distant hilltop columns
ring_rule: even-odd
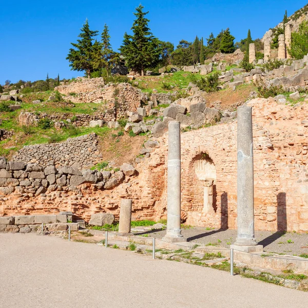
[[[291,46],[288,52],[291,57],[300,60],[308,53],[308,22],[303,22],[299,26],[298,32],[292,33]]]

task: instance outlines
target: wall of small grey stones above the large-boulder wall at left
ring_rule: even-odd
[[[102,160],[98,150],[98,138],[95,133],[69,138],[62,143],[37,144],[24,146],[13,159],[26,164],[37,163],[41,166],[55,165],[92,167]]]

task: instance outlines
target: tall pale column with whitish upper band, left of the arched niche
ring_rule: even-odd
[[[181,234],[181,131],[180,122],[169,122],[167,177],[167,233],[163,240],[184,242]]]

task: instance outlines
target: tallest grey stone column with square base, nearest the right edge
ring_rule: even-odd
[[[234,248],[262,251],[255,239],[254,222],[254,156],[252,107],[238,108],[237,123],[237,224],[238,237]]]

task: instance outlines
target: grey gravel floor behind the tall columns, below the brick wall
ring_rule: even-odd
[[[144,232],[150,237],[162,238],[166,231],[155,230]],[[237,230],[211,229],[206,230],[201,227],[182,229],[182,235],[189,242],[202,244],[213,243],[221,247],[229,247],[233,244],[237,237]],[[263,245],[264,251],[285,254],[285,255],[301,255],[308,254],[308,234],[299,233],[275,233],[269,231],[256,231],[256,239],[259,244]]]

